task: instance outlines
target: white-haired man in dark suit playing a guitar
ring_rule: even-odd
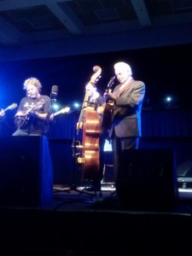
[[[114,174],[117,178],[123,150],[137,149],[139,146],[145,84],[133,79],[131,67],[125,62],[117,62],[114,65],[114,73],[119,84],[113,92],[104,93],[104,97],[98,96],[96,92],[96,96],[97,102],[113,102],[113,124],[109,137],[112,140]],[[97,112],[102,113],[101,109],[98,108]]]

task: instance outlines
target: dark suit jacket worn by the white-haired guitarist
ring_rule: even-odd
[[[115,94],[121,84],[117,85],[113,93]],[[143,98],[145,95],[145,84],[142,81],[134,80],[130,86],[117,97],[114,106],[113,125],[109,131],[109,137],[113,132],[117,137],[140,137],[141,128],[141,110]],[[102,99],[98,99],[99,102]]]

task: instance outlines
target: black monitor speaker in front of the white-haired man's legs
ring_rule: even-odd
[[[123,207],[151,210],[176,207],[175,152],[163,148],[125,150],[120,160],[116,191]]]

